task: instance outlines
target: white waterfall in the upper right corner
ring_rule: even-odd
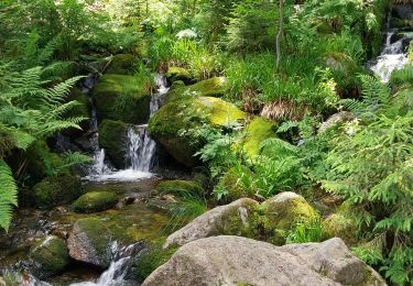
[[[409,63],[407,50],[410,38],[399,29],[391,28],[391,13],[388,16],[385,29],[385,45],[380,56],[370,64],[369,68],[377,74],[383,82],[389,82],[393,70]]]

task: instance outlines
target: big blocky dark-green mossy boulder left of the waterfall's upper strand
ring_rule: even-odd
[[[120,120],[127,123],[145,123],[150,116],[151,92],[149,82],[133,76],[105,75],[93,89],[100,120]]]

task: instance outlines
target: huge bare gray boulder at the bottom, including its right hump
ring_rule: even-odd
[[[142,286],[385,285],[340,239],[272,244],[240,237],[200,239],[182,246]]]

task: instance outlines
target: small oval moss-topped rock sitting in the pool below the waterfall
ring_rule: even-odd
[[[118,204],[118,196],[110,191],[91,191],[79,197],[72,209],[76,212],[96,212],[110,209]]]

